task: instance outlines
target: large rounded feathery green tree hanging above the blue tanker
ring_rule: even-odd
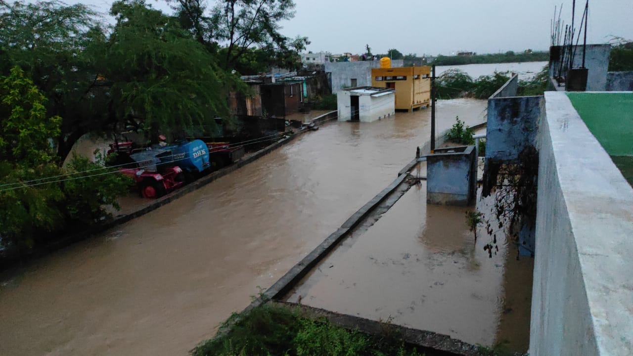
[[[116,25],[97,68],[109,87],[112,120],[157,137],[227,116],[229,91],[243,84],[175,18],[142,1],[116,1],[111,15]]]

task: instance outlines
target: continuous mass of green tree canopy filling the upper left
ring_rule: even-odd
[[[230,120],[240,73],[300,65],[305,37],[280,34],[292,0],[115,1],[109,25],[82,4],[0,0],[0,248],[29,250],[108,217],[128,179],[74,157],[89,133],[175,136]],[[0,249],[2,251],[2,249]]]

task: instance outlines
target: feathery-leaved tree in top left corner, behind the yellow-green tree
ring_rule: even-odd
[[[96,13],[85,5],[58,1],[0,3],[0,48],[8,68],[20,66],[46,96],[49,115],[63,117],[56,136],[60,160],[79,137],[100,129],[92,116],[96,84],[92,58],[84,48],[103,36]]]

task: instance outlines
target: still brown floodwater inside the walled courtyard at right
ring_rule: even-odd
[[[478,201],[484,213],[493,205],[490,197]],[[481,226],[475,243],[465,219],[472,210],[427,205],[425,182],[413,186],[375,225],[344,240],[287,301],[301,296],[311,307],[525,352],[532,258],[517,261],[503,231],[493,243]],[[489,243],[499,248],[492,258]]]

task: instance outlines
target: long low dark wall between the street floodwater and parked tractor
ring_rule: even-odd
[[[334,110],[334,111],[330,111],[329,113],[320,115],[316,118],[313,118],[312,121],[315,124],[322,124],[323,122],[336,120],[336,118],[337,118],[337,111]],[[63,239],[58,239],[47,246],[43,246],[39,248],[38,250],[34,251],[31,255],[28,255],[26,257],[20,257],[17,255],[0,255],[0,271],[4,269],[8,269],[9,267],[11,267],[12,265],[18,262],[22,263],[25,260],[42,257],[44,255],[47,255],[48,253],[51,253],[54,250],[58,250],[65,246],[71,245],[72,243],[90,238],[91,236],[94,236],[95,234],[98,234],[99,232],[103,232],[105,230],[111,229],[121,224],[125,224],[126,222],[130,220],[134,220],[137,217],[141,217],[142,215],[145,215],[146,213],[153,212],[154,210],[162,207],[163,205],[166,205],[167,203],[170,203],[171,201],[176,200],[180,198],[181,196],[184,196],[185,194],[189,194],[192,191],[196,191],[197,189],[200,189],[203,186],[206,186],[210,182],[213,182],[220,177],[223,177],[231,172],[234,172],[235,170],[242,168],[245,165],[248,165],[249,163],[252,163],[258,160],[262,156],[268,155],[268,153],[271,153],[275,149],[280,148],[281,146],[284,146],[287,143],[291,143],[294,139],[301,136],[301,134],[304,134],[305,132],[308,132],[308,131],[309,131],[308,129],[304,128],[303,130],[299,131],[298,133],[292,136],[279,139],[279,141],[273,144],[270,144],[269,146],[266,146],[265,148],[260,149],[259,151],[257,151],[251,156],[248,156],[246,158],[241,158],[238,162],[235,162],[232,165],[229,165],[228,167],[222,168],[220,170],[216,170],[215,172],[209,175],[206,175],[202,177],[201,179],[198,179],[197,181],[192,182],[191,184],[187,184],[183,188],[177,189],[173,191],[172,193],[166,194],[165,196],[155,200],[153,203],[151,203],[150,205],[147,205],[146,207],[143,207],[127,215],[119,215],[118,217],[115,217],[114,219],[108,222],[105,222],[104,224],[93,226],[87,230],[68,234]]]

